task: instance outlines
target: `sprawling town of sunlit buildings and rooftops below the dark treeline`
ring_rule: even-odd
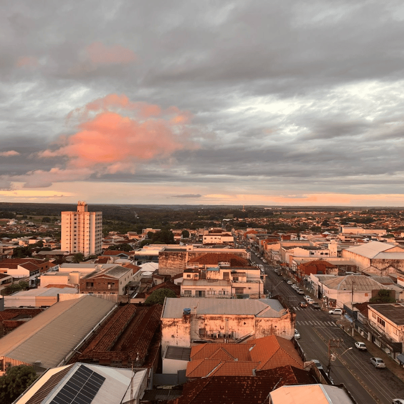
[[[0,219],[0,376],[38,376],[16,404],[355,403],[331,359],[327,371],[299,344],[308,306],[404,366],[400,211],[243,209],[215,226],[105,233],[89,208]]]

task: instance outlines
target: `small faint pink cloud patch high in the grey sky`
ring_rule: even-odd
[[[101,42],[94,42],[85,48],[85,52],[94,65],[120,65],[136,60],[133,51],[121,45],[106,46]]]

